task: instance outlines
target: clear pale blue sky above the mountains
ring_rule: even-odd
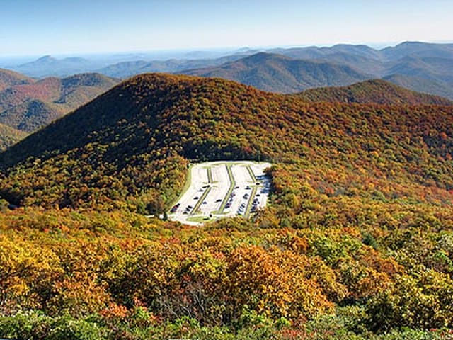
[[[452,0],[0,0],[0,57],[452,41]]]

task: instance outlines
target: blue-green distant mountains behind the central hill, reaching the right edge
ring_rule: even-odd
[[[405,42],[384,50],[336,45],[270,52],[273,53],[180,73],[222,77],[283,93],[382,78],[408,89],[453,99],[453,44]],[[283,56],[292,59],[285,60]]]

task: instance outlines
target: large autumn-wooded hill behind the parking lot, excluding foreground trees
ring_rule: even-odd
[[[266,159],[279,199],[306,183],[333,197],[444,205],[452,127],[452,106],[306,103],[222,79],[143,74],[0,154],[0,195],[149,212],[176,198],[188,162]]]

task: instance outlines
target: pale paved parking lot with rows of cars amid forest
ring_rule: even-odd
[[[269,163],[207,162],[190,167],[190,186],[173,205],[168,218],[187,225],[224,217],[251,217],[268,201]]]

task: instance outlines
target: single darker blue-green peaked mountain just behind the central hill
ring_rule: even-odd
[[[368,79],[348,66],[327,62],[292,60],[282,55],[258,53],[219,67],[193,69],[183,74],[221,77],[271,92],[297,92],[320,86],[352,84]]]

